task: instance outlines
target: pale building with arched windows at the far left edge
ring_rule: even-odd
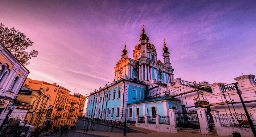
[[[16,106],[16,96],[29,71],[0,42],[0,125],[8,119],[8,108]]]

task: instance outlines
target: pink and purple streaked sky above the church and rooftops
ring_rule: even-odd
[[[93,3],[92,3],[93,2]],[[25,33],[39,51],[29,78],[84,96],[114,80],[125,41],[133,58],[142,25],[174,77],[233,83],[256,74],[256,3],[251,1],[7,1],[0,22]]]

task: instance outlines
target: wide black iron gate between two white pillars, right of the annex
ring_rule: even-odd
[[[196,111],[176,111],[177,127],[200,129]]]

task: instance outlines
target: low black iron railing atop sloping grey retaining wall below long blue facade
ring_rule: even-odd
[[[96,118],[87,118],[87,117],[78,117],[78,119],[85,119],[85,120],[95,121],[99,123],[106,123],[106,124],[115,125],[119,127],[124,127],[124,124],[125,124],[125,122],[110,120],[110,119],[96,119]]]

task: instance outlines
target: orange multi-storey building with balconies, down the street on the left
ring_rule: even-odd
[[[56,83],[27,78],[24,86],[34,90],[44,89],[51,96],[47,110],[47,119],[53,120],[52,126],[75,125],[78,116],[82,116],[86,97],[81,94],[71,95],[70,91]]]

